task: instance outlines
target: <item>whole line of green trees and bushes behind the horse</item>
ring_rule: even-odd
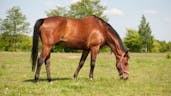
[[[104,14],[106,7],[100,4],[100,0],[80,0],[69,6],[56,6],[55,9],[46,11],[47,16],[65,16],[82,18],[96,15],[108,21]],[[0,18],[0,51],[30,51],[32,47],[32,32],[29,28],[26,16],[20,7],[14,6],[7,10],[5,19]],[[171,42],[159,41],[152,35],[150,23],[143,15],[138,30],[127,29],[126,37],[123,38],[125,47],[131,52],[167,52],[171,51]],[[39,45],[41,46],[41,44]],[[54,46],[53,52],[79,52],[73,49]],[[109,52],[108,47],[102,49]]]

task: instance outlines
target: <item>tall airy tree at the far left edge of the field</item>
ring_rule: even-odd
[[[29,23],[26,22],[26,16],[22,14],[17,6],[7,11],[5,19],[1,20],[1,44],[5,51],[16,51],[22,39],[19,35],[29,33]]]

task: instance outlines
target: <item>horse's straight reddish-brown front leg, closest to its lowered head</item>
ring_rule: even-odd
[[[90,62],[90,73],[89,73],[90,80],[93,79],[93,72],[94,72],[96,57],[99,52],[99,48],[100,48],[99,46],[94,46],[91,48],[91,62]]]

